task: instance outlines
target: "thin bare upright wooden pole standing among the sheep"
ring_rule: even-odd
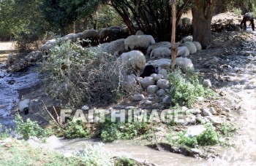
[[[172,71],[174,71],[175,63],[176,63],[176,57],[178,48],[175,44],[175,36],[176,36],[176,0],[172,0],[172,16],[173,16],[173,25],[172,25],[172,36],[171,36],[171,65],[170,68]]]

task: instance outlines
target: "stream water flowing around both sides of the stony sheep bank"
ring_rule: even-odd
[[[243,45],[244,52],[256,54],[256,33],[253,42]],[[136,159],[139,162],[149,162],[156,165],[256,165],[256,57],[227,55],[226,64],[232,66],[227,75],[230,81],[217,89],[227,93],[234,106],[240,104],[240,114],[234,113],[238,134],[233,136],[235,146],[221,149],[220,157],[214,159],[195,159],[184,157],[181,154],[173,154],[167,151],[157,151],[148,146],[138,145],[132,141],[118,141],[117,143],[105,143],[102,148],[113,156],[125,156]],[[236,70],[243,71],[240,74]],[[30,68],[28,71],[9,74],[0,63],[0,124],[4,127],[13,126],[13,117],[10,116],[12,108],[19,101],[18,90],[31,87],[40,82],[39,74]],[[63,139],[49,138],[47,143],[39,143],[30,139],[32,146],[44,147],[71,154],[86,147],[87,143],[98,144],[97,140],[83,138]]]

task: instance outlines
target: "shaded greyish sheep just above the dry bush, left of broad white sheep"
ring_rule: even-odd
[[[124,40],[125,39],[118,39],[109,44],[106,44],[104,50],[108,53],[113,53],[114,55],[120,55],[123,53],[124,50]]]

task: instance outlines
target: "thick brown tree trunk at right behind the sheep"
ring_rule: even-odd
[[[193,40],[200,42],[203,49],[211,47],[211,18],[215,0],[194,0],[192,7]]]

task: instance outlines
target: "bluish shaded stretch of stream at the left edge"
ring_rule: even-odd
[[[29,71],[10,74],[0,63],[0,124],[10,128],[13,125],[13,117],[10,114],[12,108],[17,109],[19,102],[18,90],[31,87],[39,82],[39,75],[30,68]]]

